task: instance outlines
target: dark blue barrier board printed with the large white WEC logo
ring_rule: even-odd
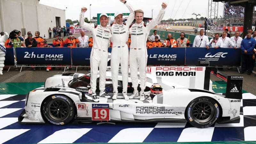
[[[186,65],[195,65],[198,60],[206,60],[211,65],[240,66],[241,49],[187,47]]]

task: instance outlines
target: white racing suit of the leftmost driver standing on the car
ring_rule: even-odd
[[[96,91],[98,67],[100,68],[100,91],[105,90],[106,84],[106,70],[108,66],[108,43],[111,38],[111,29],[109,27],[102,27],[95,25],[94,28],[84,22],[84,12],[80,13],[80,25],[86,30],[92,31],[93,46],[90,55],[91,66],[91,90],[92,93]]]

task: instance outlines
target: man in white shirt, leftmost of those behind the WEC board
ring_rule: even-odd
[[[203,29],[200,29],[200,35],[195,37],[193,47],[206,47],[209,49],[209,39],[208,36],[204,36]]]

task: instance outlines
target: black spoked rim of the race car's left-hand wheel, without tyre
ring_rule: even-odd
[[[48,115],[56,122],[62,122],[69,115],[69,106],[65,100],[53,99],[48,105]]]

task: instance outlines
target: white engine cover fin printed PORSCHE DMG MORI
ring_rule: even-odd
[[[147,67],[146,72],[147,81],[161,84],[164,90],[170,86],[204,89],[204,83],[210,80],[205,77],[205,70],[205,67]]]

